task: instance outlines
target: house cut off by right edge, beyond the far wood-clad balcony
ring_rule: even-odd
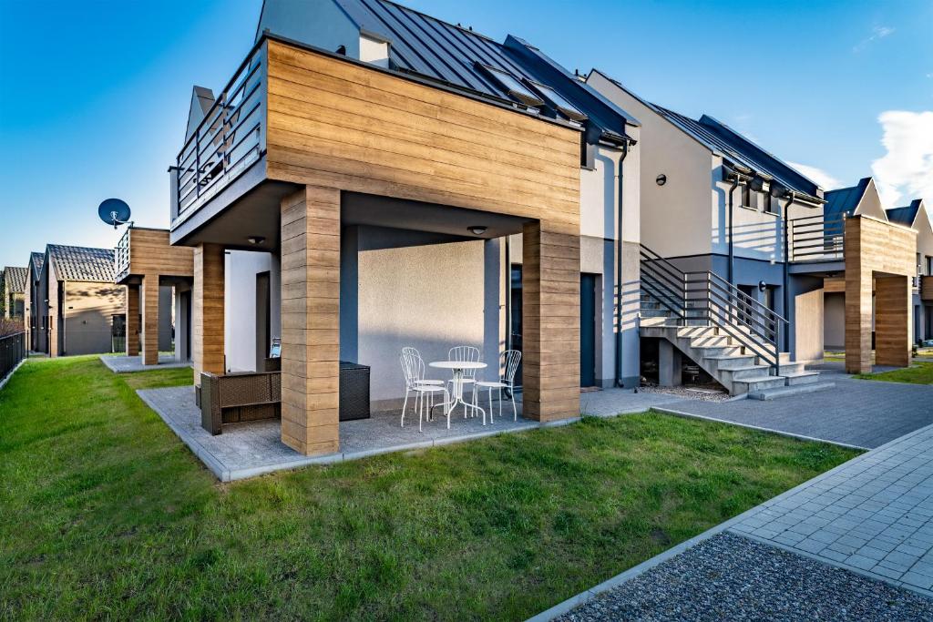
[[[913,281],[913,339],[933,339],[933,225],[923,199],[887,210],[891,222],[917,232],[917,274]]]

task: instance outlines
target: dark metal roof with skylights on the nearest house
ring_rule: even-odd
[[[578,80],[575,81],[579,86],[568,89],[568,78],[572,76],[521,39],[509,36],[505,43],[498,43],[472,28],[441,21],[389,0],[335,2],[362,32],[389,41],[389,68],[392,70],[421,76],[495,101],[527,106],[533,111],[537,109],[504,89],[493,77],[494,72],[488,69],[492,68],[517,79],[522,88],[527,86],[527,82],[533,82],[556,90],[587,117],[597,117],[591,120],[601,130],[624,136],[625,122],[636,123],[634,117],[627,116],[607,102],[597,110],[592,102],[596,102],[598,96]],[[585,90],[592,93],[581,95]],[[547,98],[541,99],[547,101]],[[542,110],[547,116],[563,120],[569,118],[557,106],[550,104],[553,103],[548,103]]]

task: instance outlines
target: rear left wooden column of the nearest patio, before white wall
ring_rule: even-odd
[[[225,371],[223,245],[199,244],[195,247],[191,296],[191,360],[194,383],[200,386],[202,371],[218,375]],[[158,293],[156,297],[158,304]],[[155,339],[158,344],[158,326]]]

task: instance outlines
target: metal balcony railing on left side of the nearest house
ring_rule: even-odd
[[[175,159],[173,224],[228,187],[265,152],[265,49],[260,41],[250,51]]]

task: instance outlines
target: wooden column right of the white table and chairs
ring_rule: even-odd
[[[522,414],[579,416],[578,228],[533,222],[522,231]]]

